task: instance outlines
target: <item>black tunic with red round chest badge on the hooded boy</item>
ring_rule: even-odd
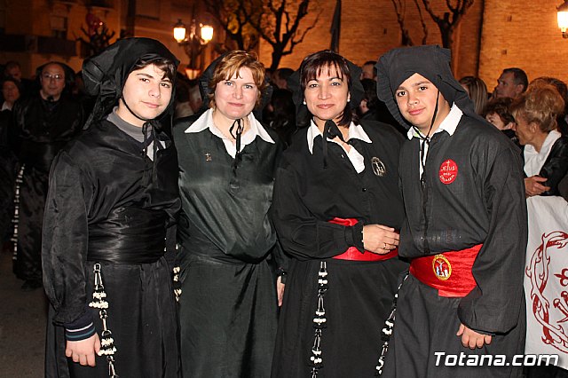
[[[434,355],[502,354],[510,362],[524,350],[527,218],[518,149],[488,123],[463,114],[453,136],[442,131],[431,137],[421,189],[421,143],[419,138],[407,141],[400,154],[406,207],[400,255],[430,256],[483,243],[472,268],[477,287],[463,298],[447,298],[409,275],[398,293],[383,376],[519,374],[512,366],[436,366]],[[455,162],[457,175],[445,183],[440,169],[448,159]],[[460,324],[493,335],[492,343],[464,348],[455,335]]]

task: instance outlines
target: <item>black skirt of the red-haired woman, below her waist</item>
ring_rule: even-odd
[[[278,305],[266,260],[227,264],[186,254],[180,266],[183,376],[268,377]]]

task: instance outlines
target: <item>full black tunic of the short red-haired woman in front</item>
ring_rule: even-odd
[[[182,201],[183,375],[267,377],[277,299],[266,258],[276,243],[269,212],[281,145],[272,131],[276,145],[257,136],[233,170],[221,138],[209,129],[185,133],[196,119],[181,119],[174,127]]]

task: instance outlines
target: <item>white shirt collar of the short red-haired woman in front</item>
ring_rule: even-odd
[[[254,114],[248,114],[247,119],[249,129],[241,136],[241,151],[245,146],[252,143],[255,140],[256,136],[262,138],[267,143],[274,143],[274,140],[271,138],[270,134],[268,134],[268,132],[264,130],[263,125],[256,120]],[[225,144],[227,153],[235,157],[236,146],[233,145],[232,139],[225,137],[221,130],[217,129],[217,126],[215,126],[215,123],[213,122],[213,109],[208,109],[205,113],[201,114],[201,116],[197,120],[195,120],[195,122],[193,122],[187,129],[185,129],[185,134],[201,132],[205,129],[209,129],[209,131],[211,131],[211,134],[215,135],[218,138],[221,138],[223,140],[223,143]]]

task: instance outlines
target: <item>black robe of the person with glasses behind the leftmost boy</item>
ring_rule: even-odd
[[[81,130],[83,110],[65,96],[56,102],[39,95],[17,101],[10,134],[20,166],[20,220],[15,272],[22,280],[41,280],[42,224],[51,161]]]

